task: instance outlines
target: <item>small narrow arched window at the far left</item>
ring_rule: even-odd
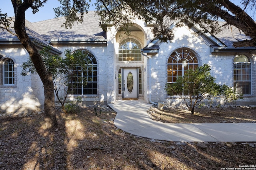
[[[3,71],[3,84],[14,85],[14,61],[12,59],[7,59],[4,61]]]

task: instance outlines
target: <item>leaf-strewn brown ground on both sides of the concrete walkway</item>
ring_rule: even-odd
[[[107,106],[80,113],[57,112],[58,127],[46,129],[43,114],[0,116],[1,170],[220,170],[256,165],[254,143],[180,143],[145,139],[114,126]],[[168,123],[255,122],[255,107],[222,113],[155,107],[150,116]],[[99,114],[99,113],[98,113]]]

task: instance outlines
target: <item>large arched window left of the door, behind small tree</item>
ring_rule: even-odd
[[[87,67],[76,66],[72,69],[73,77],[72,81],[69,82],[71,94],[98,94],[96,58],[87,50],[82,50],[82,54],[85,55]]]

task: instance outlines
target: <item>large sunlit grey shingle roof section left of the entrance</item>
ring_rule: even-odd
[[[84,14],[83,23],[75,23],[71,29],[61,27],[64,17],[34,22],[40,35],[51,44],[106,43],[106,32],[99,27],[99,17],[94,11]]]

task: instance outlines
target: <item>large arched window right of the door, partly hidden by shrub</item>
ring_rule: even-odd
[[[174,83],[178,76],[184,76],[186,70],[198,68],[196,55],[186,48],[175,50],[167,63],[167,82]]]

